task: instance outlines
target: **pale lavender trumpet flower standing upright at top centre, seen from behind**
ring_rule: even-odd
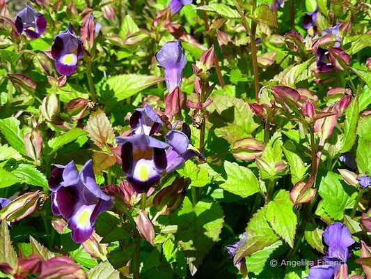
[[[159,67],[164,68],[166,87],[168,93],[172,93],[176,86],[180,88],[182,84],[182,71],[187,63],[187,58],[183,54],[182,45],[179,40],[165,43],[156,54]]]

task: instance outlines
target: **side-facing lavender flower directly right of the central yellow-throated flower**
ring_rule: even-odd
[[[173,170],[194,156],[205,159],[205,156],[189,142],[191,129],[188,124],[183,123],[181,130],[175,130],[176,125],[175,123],[173,129],[166,134],[166,142],[170,145],[166,151],[168,161],[168,166],[166,167],[167,173],[173,172]]]

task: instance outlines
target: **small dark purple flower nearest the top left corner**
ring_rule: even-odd
[[[24,31],[30,38],[39,38],[47,27],[47,20],[44,15],[30,8],[21,10],[14,18],[15,27],[19,35]]]

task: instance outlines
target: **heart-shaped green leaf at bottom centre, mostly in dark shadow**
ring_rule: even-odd
[[[178,225],[175,238],[183,249],[193,276],[219,238],[223,227],[223,211],[216,202],[202,200],[193,206],[189,198],[185,197],[182,207],[171,215],[171,221]]]

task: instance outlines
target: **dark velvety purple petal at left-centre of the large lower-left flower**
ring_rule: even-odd
[[[74,206],[78,202],[77,188],[74,186],[60,187],[56,191],[54,206],[59,209],[64,218],[70,218],[74,213]]]

